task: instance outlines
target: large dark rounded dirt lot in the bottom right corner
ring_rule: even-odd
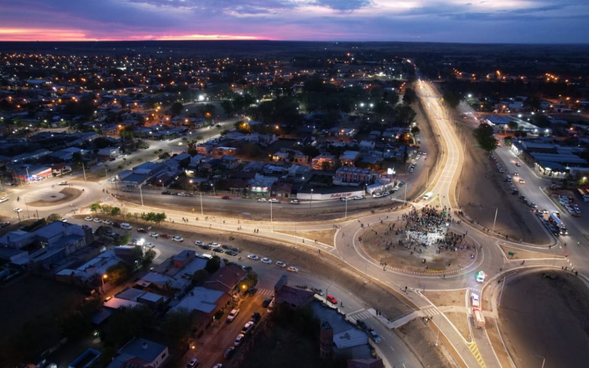
[[[574,274],[525,274],[505,285],[499,327],[518,367],[586,367],[589,290]]]

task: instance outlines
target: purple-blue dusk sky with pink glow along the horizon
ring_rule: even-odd
[[[0,41],[586,43],[589,0],[0,0]]]

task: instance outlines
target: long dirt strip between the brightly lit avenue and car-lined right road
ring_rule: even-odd
[[[530,213],[530,208],[519,203],[517,196],[504,183],[487,153],[477,147],[472,128],[466,120],[455,119],[458,130],[462,128],[465,139],[464,167],[458,185],[460,188],[458,204],[462,211],[481,226],[492,228],[495,208],[499,208],[495,232],[508,235],[512,239],[522,239],[529,243],[545,241],[540,223]],[[513,226],[518,224],[518,226]]]

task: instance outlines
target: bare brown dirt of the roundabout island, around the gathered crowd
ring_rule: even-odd
[[[398,228],[402,221],[393,221],[395,228]],[[404,234],[395,235],[395,231],[385,234],[392,223],[375,224],[366,227],[362,233],[362,246],[366,253],[378,261],[386,262],[387,266],[402,268],[412,272],[451,272],[459,270],[473,260],[471,254],[477,255],[477,250],[470,248],[458,251],[442,251],[437,253],[435,246],[417,247],[422,253],[399,246],[399,240],[406,240]],[[403,225],[404,226],[404,225]],[[393,246],[386,250],[386,242],[392,241]],[[425,258],[426,263],[423,263]],[[428,268],[426,269],[425,266]]]

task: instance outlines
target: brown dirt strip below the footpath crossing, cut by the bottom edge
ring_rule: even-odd
[[[396,331],[411,346],[413,352],[417,352],[416,356],[421,359],[424,367],[454,367],[454,361],[447,353],[442,352],[443,348],[439,345],[435,346],[436,336],[421,319],[414,319],[403,324]]]

